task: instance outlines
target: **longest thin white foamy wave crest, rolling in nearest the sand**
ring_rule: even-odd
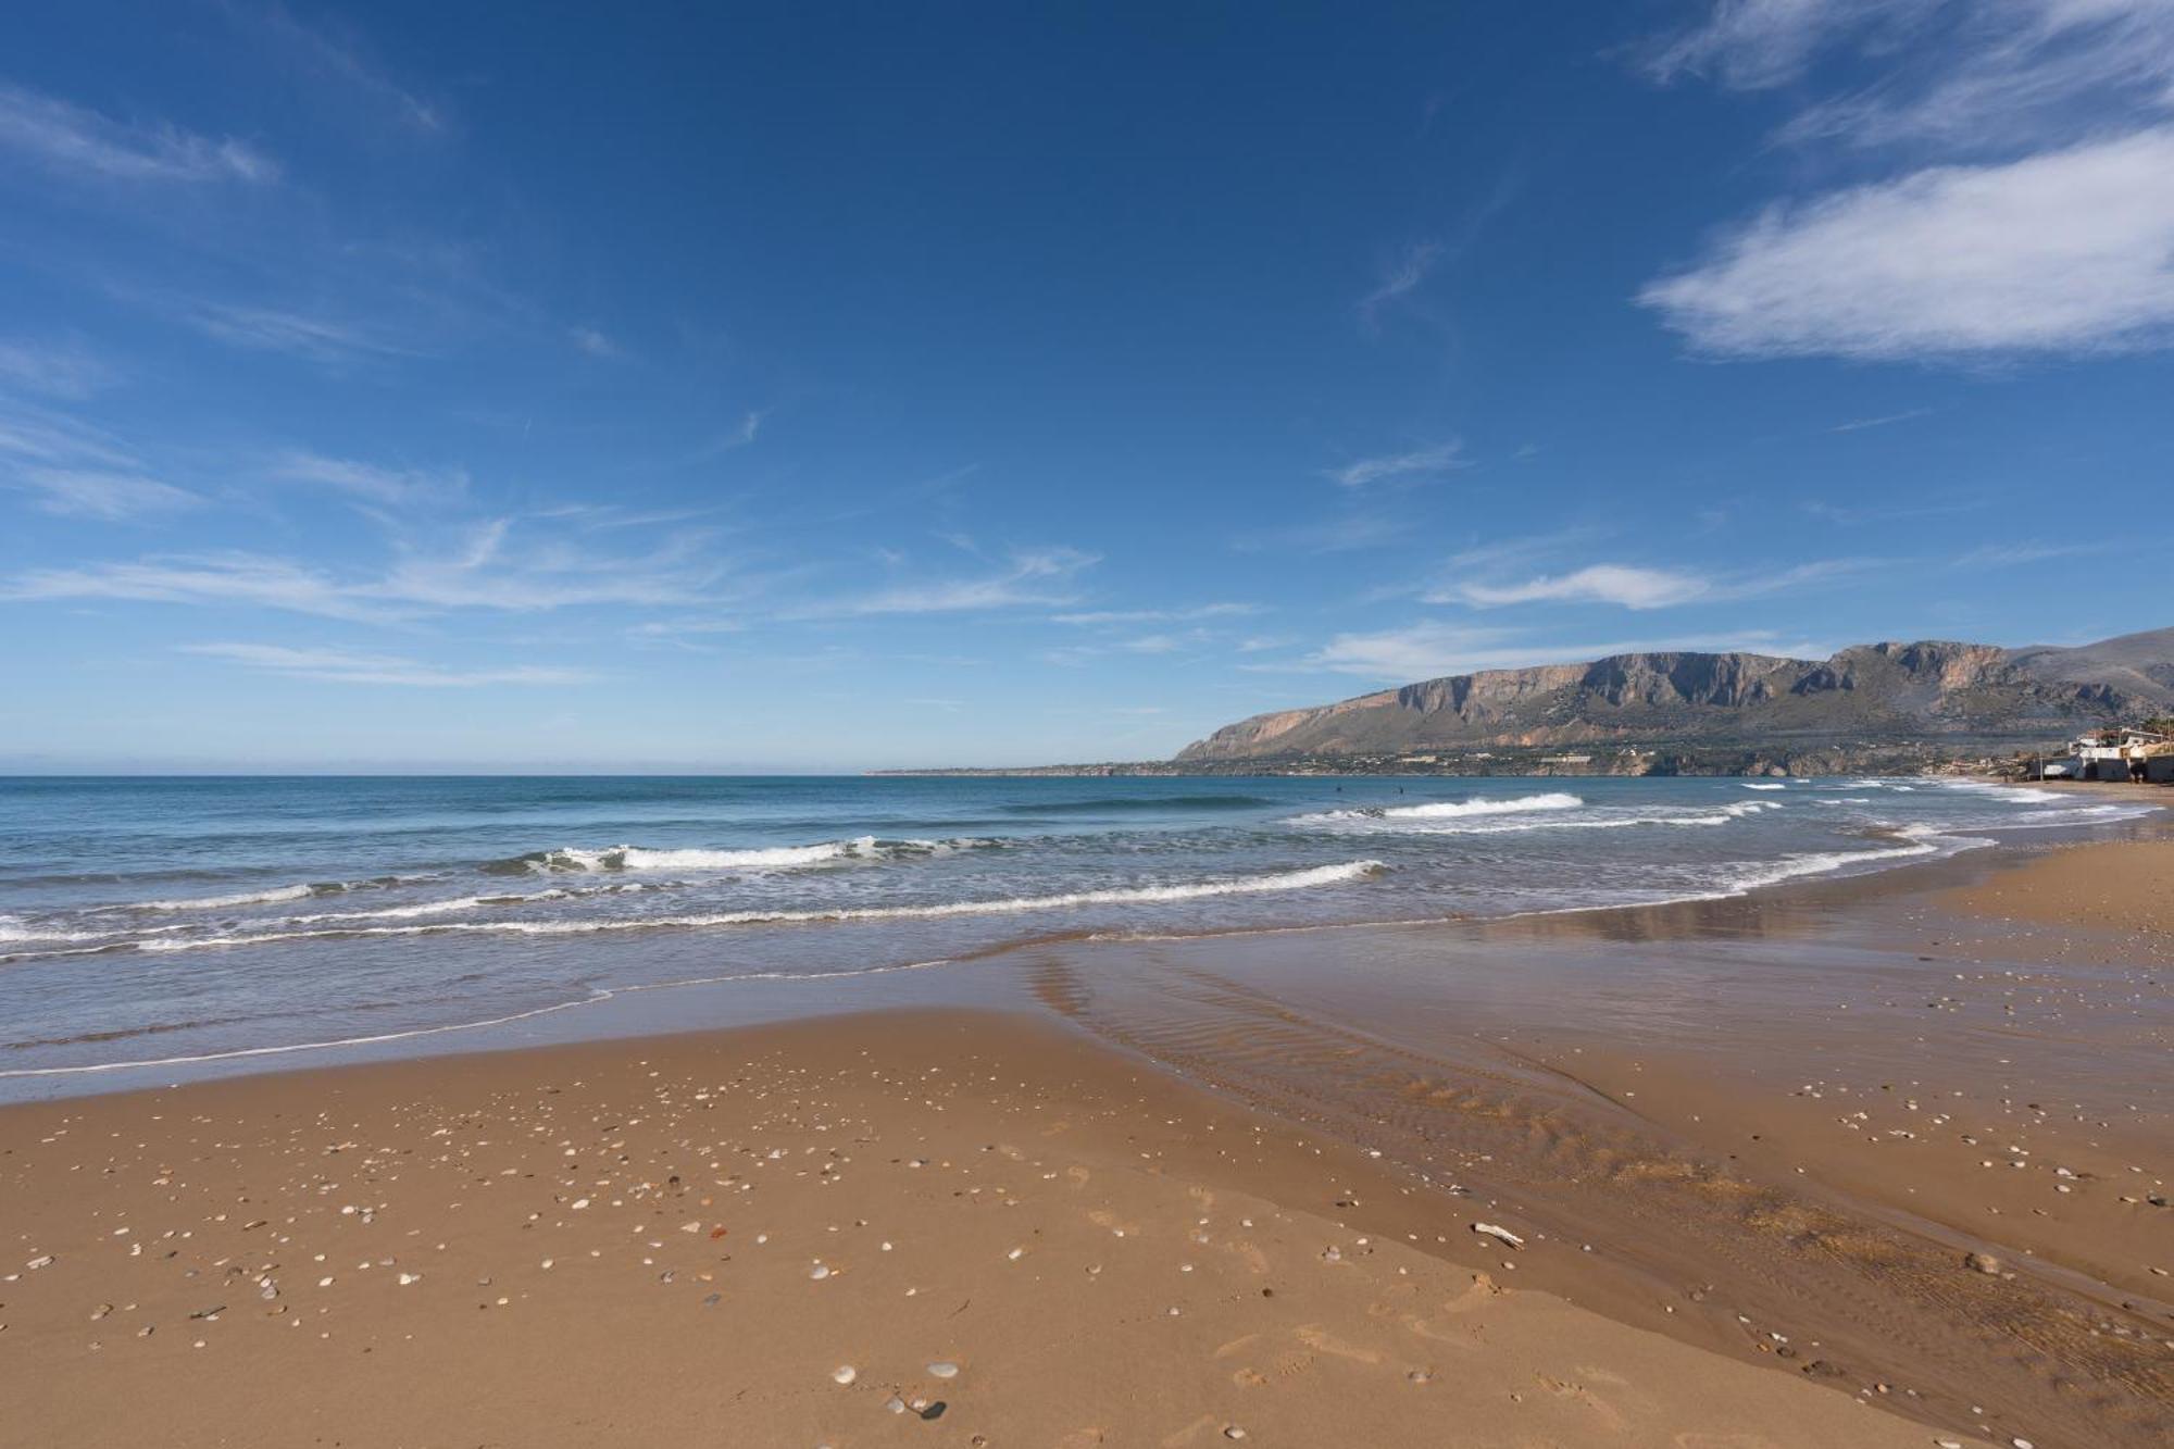
[[[615,916],[598,920],[433,920],[417,925],[380,927],[335,927],[330,931],[250,931],[241,936],[200,936],[189,940],[146,940],[128,942],[137,951],[202,951],[207,946],[254,946],[278,940],[307,938],[367,938],[367,936],[450,936],[450,933],[509,933],[509,936],[587,936],[594,931],[654,931],[654,929],[704,929],[735,925],[798,925],[837,920],[939,920],[946,916],[1009,916],[1022,912],[1072,909],[1080,905],[1157,905],[1165,901],[1194,901],[1200,896],[1239,896],[1276,890],[1311,890],[1317,886],[1344,886],[1385,872],[1378,859],[1354,859],[1337,866],[1311,866],[1307,870],[1278,870],[1274,875],[1237,877],[1222,881],[1189,881],[1176,886],[1113,886],[1107,890],[1070,890],[1054,896],[1007,896],[1002,901],[939,901],[933,905],[839,905],[828,909],[750,909],[713,912],[700,916]]]

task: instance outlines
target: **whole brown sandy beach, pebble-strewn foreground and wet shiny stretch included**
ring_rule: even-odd
[[[2167,849],[7,1107],[11,1442],[2159,1442]]]

